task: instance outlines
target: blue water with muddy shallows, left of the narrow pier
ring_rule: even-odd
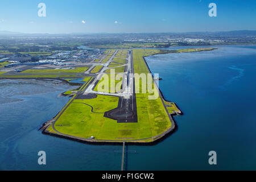
[[[0,80],[0,170],[100,170],[121,167],[120,146],[92,146],[43,135],[40,126],[68,102],[77,86]],[[38,152],[46,152],[46,165]],[[120,163],[120,164],[119,164]]]

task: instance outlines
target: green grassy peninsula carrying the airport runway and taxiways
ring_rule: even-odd
[[[60,79],[69,84],[81,80],[79,89],[63,93],[71,99],[43,124],[43,134],[84,143],[150,144],[171,134],[175,130],[173,116],[182,113],[174,102],[164,100],[156,84],[159,79],[152,77],[144,57],[212,50],[106,49],[95,59],[74,68],[43,69],[47,66],[27,65],[20,72],[2,72],[0,77]],[[152,90],[148,90],[147,84],[151,84]]]

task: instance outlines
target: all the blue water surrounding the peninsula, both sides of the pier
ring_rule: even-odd
[[[256,169],[256,46],[146,58],[160,89],[184,115],[154,146],[127,146],[128,170]],[[43,135],[40,125],[67,103],[51,82],[0,81],[0,169],[119,170],[122,146],[94,146]],[[28,92],[29,90],[29,92]],[[38,165],[38,151],[47,165]],[[217,152],[210,166],[208,152]],[[133,151],[133,152],[129,152]],[[134,151],[136,151],[134,153]]]

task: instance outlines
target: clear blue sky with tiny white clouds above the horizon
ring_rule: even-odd
[[[46,17],[38,16],[41,2],[46,4]],[[217,17],[208,15],[211,2],[217,5]],[[255,0],[0,1],[0,31],[56,34],[230,30],[256,30]]]

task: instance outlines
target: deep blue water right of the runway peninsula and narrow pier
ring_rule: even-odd
[[[152,147],[129,146],[128,169],[256,169],[256,46],[146,57],[160,89],[184,115]],[[217,152],[217,165],[208,163]]]

